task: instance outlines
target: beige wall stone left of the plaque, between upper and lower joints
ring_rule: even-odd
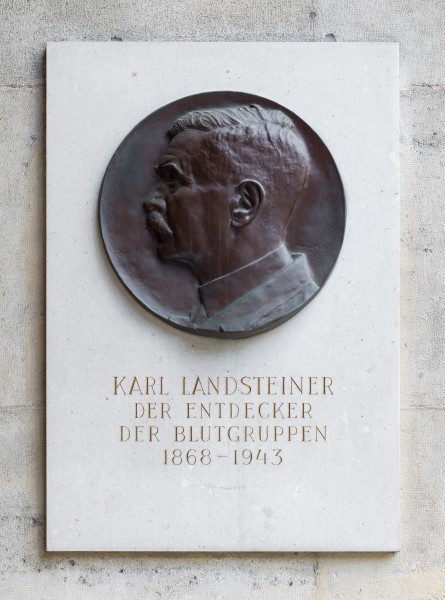
[[[43,90],[0,91],[0,406],[42,404]]]

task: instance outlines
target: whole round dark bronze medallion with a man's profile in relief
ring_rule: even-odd
[[[236,338],[280,325],[317,294],[345,203],[329,151],[301,119],[213,92],[163,107],[122,142],[100,223],[114,269],[146,308]]]

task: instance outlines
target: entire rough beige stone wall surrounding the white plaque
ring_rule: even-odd
[[[0,23],[0,598],[444,599],[443,0],[1,0]],[[46,553],[46,41],[334,36],[401,42],[402,551]]]

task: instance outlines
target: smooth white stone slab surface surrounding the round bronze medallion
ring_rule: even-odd
[[[398,548],[397,52],[396,44],[49,46],[49,549]],[[108,157],[146,114],[240,85],[294,110],[327,143],[346,191],[346,237],[323,293],[299,318],[236,342],[192,338],[169,331],[116,285],[97,234],[98,192]],[[175,425],[192,424],[182,377],[310,373],[336,382],[330,400],[312,401],[311,423],[332,432],[326,447],[286,440],[281,450],[284,440],[275,440],[286,454],[279,469],[269,446],[269,462],[242,470],[235,450],[248,443],[258,461],[264,449],[243,440],[241,417],[239,444],[214,435],[196,444],[195,436],[179,449]],[[134,397],[113,394],[116,374],[165,378],[173,415],[156,423],[155,443],[119,441],[118,426],[140,421]],[[224,394],[218,400],[228,402]],[[214,434],[217,418],[193,424]],[[210,453],[212,464],[175,469],[166,457],[183,451]],[[146,510],[136,516],[128,503]]]

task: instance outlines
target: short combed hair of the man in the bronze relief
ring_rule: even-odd
[[[187,130],[208,133],[203,158],[212,162],[216,147],[220,176],[257,179],[268,192],[268,203],[281,209],[287,222],[306,181],[308,151],[284,112],[257,104],[196,110],[176,119],[168,133],[174,138]]]

